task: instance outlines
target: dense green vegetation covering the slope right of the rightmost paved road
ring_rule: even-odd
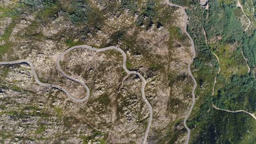
[[[255,112],[254,26],[245,31],[240,20],[241,9],[236,7],[237,1],[210,1],[209,10],[200,7],[197,1],[172,2],[188,8],[188,31],[196,48],[193,74],[199,86],[196,89],[196,105],[189,119],[189,127],[192,129],[190,142],[254,143],[256,122],[251,116],[246,113],[223,112],[212,107],[214,104],[225,110]],[[212,52],[219,57],[220,64]],[[249,73],[242,52],[248,59],[251,68]],[[219,67],[221,70],[218,74]],[[212,95],[216,75],[217,84]]]

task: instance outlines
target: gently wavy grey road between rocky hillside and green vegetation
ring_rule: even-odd
[[[183,13],[184,13],[184,22],[185,22],[185,25],[184,25],[184,32],[188,35],[189,39],[190,39],[190,43],[192,45],[192,50],[193,50],[193,59],[191,59],[191,61],[189,62],[189,65],[188,65],[188,71],[189,71],[189,75],[191,76],[193,82],[194,82],[194,87],[193,87],[193,91],[192,91],[192,104],[191,104],[191,107],[189,109],[189,113],[187,114],[187,116],[185,117],[184,119],[184,125],[185,125],[185,128],[188,130],[188,138],[187,138],[187,144],[189,143],[189,139],[190,139],[190,129],[188,128],[188,125],[187,125],[187,120],[193,110],[193,107],[195,105],[195,89],[197,87],[197,83],[196,83],[196,80],[195,80],[195,77],[193,76],[193,74],[191,73],[191,64],[193,63],[194,61],[194,58],[196,56],[196,52],[195,52],[195,45],[194,45],[194,41],[193,39],[191,38],[191,36],[189,35],[189,33],[187,32],[187,23],[188,23],[188,16],[187,16],[187,13],[185,11],[185,9],[179,5],[176,5],[176,4],[172,4],[170,3],[169,0],[166,0],[166,3],[168,5],[170,5],[171,7],[176,7],[176,8],[180,8],[182,9]]]

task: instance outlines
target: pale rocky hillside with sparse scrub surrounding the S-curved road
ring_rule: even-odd
[[[183,119],[193,83],[187,71],[191,47],[181,30],[180,10],[158,1],[137,2],[136,12],[123,1],[86,1],[103,18],[96,15],[101,18],[97,22],[102,21],[97,24],[100,28],[85,30],[67,16],[71,1],[47,7],[43,3],[42,8],[39,3],[38,10],[26,2],[25,10],[13,6],[22,2],[0,1],[1,8],[19,11],[13,16],[0,10],[1,61],[31,61],[41,81],[61,85],[74,97],[83,98],[83,86],[57,71],[56,58],[73,45],[117,45],[127,54],[127,68],[147,80],[146,98],[153,107],[148,143],[184,143]],[[120,53],[74,50],[61,65],[89,86],[88,101],[75,103],[57,89],[37,85],[28,65],[0,66],[2,143],[142,143],[149,113],[142,100],[141,81],[124,73]]]

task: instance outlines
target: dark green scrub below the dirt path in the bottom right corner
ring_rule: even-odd
[[[197,137],[191,142],[195,143],[253,143],[256,140],[253,136],[256,132],[255,120],[246,113],[229,113],[213,109],[196,118],[189,127],[195,128],[195,125],[203,125],[200,131],[193,131]]]

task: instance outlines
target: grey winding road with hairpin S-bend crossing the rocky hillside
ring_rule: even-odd
[[[141,93],[142,93],[142,98],[143,100],[145,101],[145,103],[147,104],[148,106],[148,109],[149,109],[149,121],[148,121],[148,125],[147,125],[147,129],[146,129],[146,132],[144,134],[144,139],[143,139],[143,144],[146,144],[147,142],[147,137],[148,137],[148,133],[149,133],[149,129],[150,129],[150,125],[152,123],[152,117],[153,117],[153,110],[152,110],[152,106],[149,104],[148,100],[146,99],[145,97],[145,93],[144,93],[144,90],[145,90],[145,87],[146,87],[146,80],[144,79],[144,77],[138,73],[138,71],[130,71],[126,68],[126,54],[123,50],[121,50],[119,47],[117,46],[109,46],[109,47],[104,47],[102,49],[96,49],[94,47],[91,47],[89,45],[78,45],[78,46],[73,46],[69,49],[67,49],[66,51],[62,52],[61,55],[57,58],[57,61],[56,61],[56,64],[57,64],[57,69],[64,75],[66,76],[69,80],[72,80],[72,81],[75,81],[75,82],[78,82],[80,83],[81,85],[84,86],[84,88],[86,89],[86,96],[82,99],[77,99],[77,98],[74,98],[68,91],[66,91],[66,89],[62,88],[61,86],[59,85],[54,85],[54,84],[50,84],[50,83],[43,83],[43,82],[40,82],[39,79],[38,79],[38,76],[37,76],[37,73],[36,73],[36,70],[34,69],[34,65],[32,62],[30,61],[26,61],[26,60],[20,60],[20,61],[9,61],[9,62],[0,62],[0,65],[12,65],[12,64],[22,64],[22,63],[26,63],[28,65],[30,65],[31,67],[31,71],[32,71],[32,75],[34,76],[34,79],[36,80],[36,82],[41,85],[41,86],[44,86],[44,87],[53,87],[53,88],[57,88],[57,89],[60,89],[61,91],[65,92],[69,98],[71,98],[72,100],[76,101],[76,102],[83,102],[83,101],[86,101],[89,99],[90,97],[90,89],[88,88],[88,86],[85,85],[84,82],[80,81],[80,80],[77,80],[77,79],[74,79],[73,77],[67,75],[65,73],[65,71],[62,70],[61,66],[60,66],[60,61],[62,59],[63,56],[65,56],[68,52],[74,50],[74,49],[89,49],[89,50],[93,50],[93,51],[107,51],[107,50],[117,50],[119,52],[122,53],[123,55],[123,68],[125,70],[125,72],[127,74],[135,74],[135,75],[138,75],[139,76],[139,79],[142,80],[142,87],[141,87]]]

